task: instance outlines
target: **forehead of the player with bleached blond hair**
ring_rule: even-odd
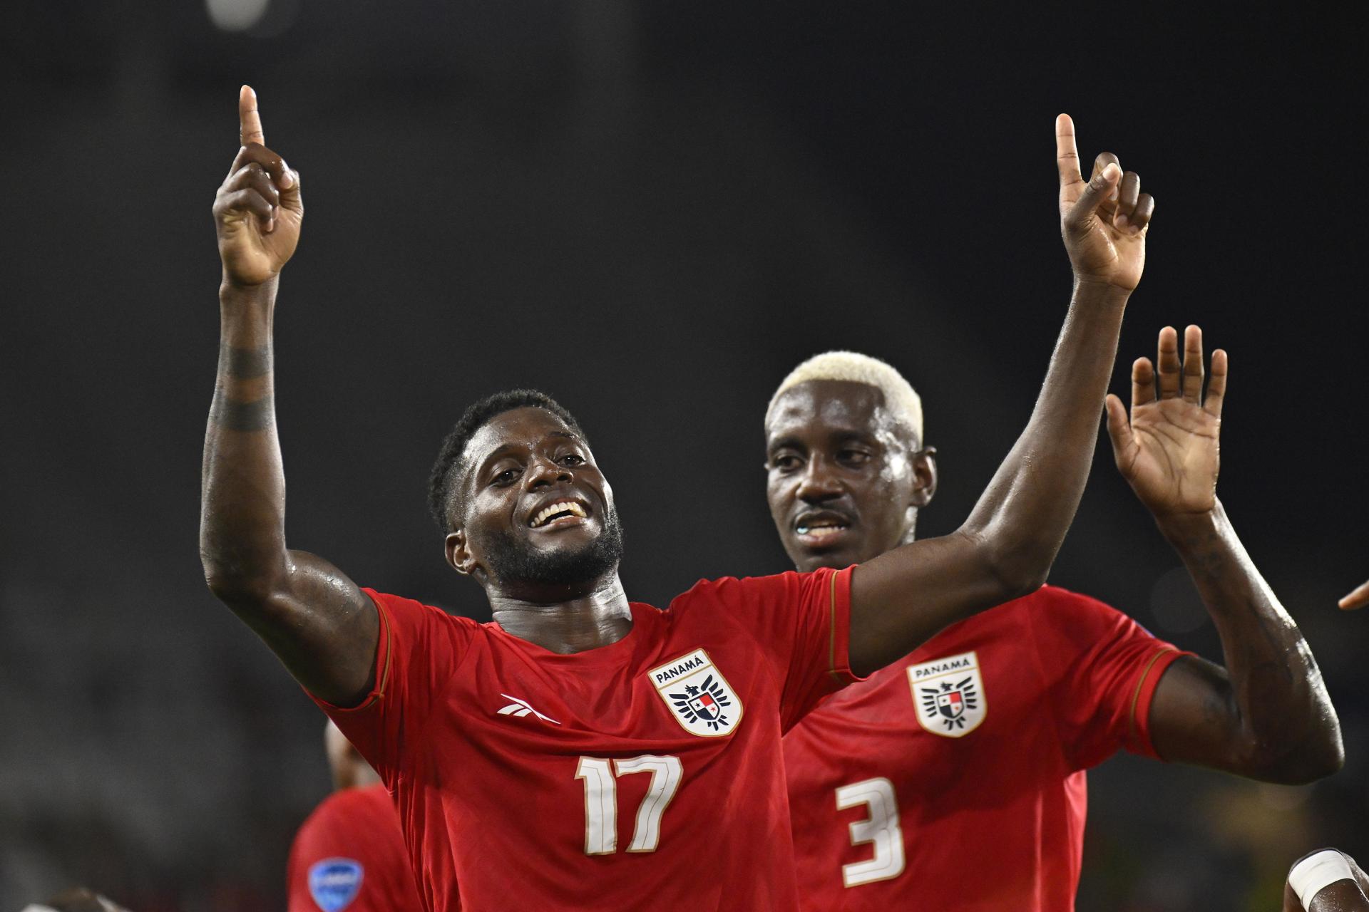
[[[879,387],[852,380],[806,380],[775,401],[765,439],[830,436],[908,436],[884,407]]]

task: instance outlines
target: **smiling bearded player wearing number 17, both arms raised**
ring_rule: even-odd
[[[304,209],[248,88],[240,120],[214,205],[205,577],[381,774],[424,908],[797,908],[780,736],[856,675],[1039,588],[1143,268],[1153,202],[1136,175],[1084,182],[1058,119],[1073,295],[1036,409],[957,532],[856,570],[704,581],[667,611],[628,602],[585,433],[548,397],[507,392],[467,410],[433,476],[446,559],[494,613],[482,625],[286,546],[272,314]],[[1116,212],[1099,215],[1114,187]]]

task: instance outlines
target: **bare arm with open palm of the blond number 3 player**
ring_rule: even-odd
[[[1160,332],[1157,371],[1132,365],[1132,410],[1108,397],[1117,468],[1183,558],[1212,615],[1225,667],[1184,656],[1166,669],[1150,710],[1155,749],[1266,782],[1310,782],[1340,768],[1340,725],[1317,662],[1236,537],[1217,499],[1217,444],[1227,353],[1212,356],[1203,397],[1202,332]],[[1158,386],[1158,394],[1157,394]]]

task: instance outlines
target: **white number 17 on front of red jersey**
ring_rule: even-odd
[[[650,753],[630,760],[580,757],[576,779],[585,779],[585,855],[617,852],[617,782],[615,775],[650,773],[652,783],[637,808],[628,852],[654,852],[661,841],[661,815],[680,788],[683,767],[674,756]]]

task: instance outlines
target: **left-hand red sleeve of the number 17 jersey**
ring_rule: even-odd
[[[309,697],[393,789],[404,752],[422,744],[415,736],[427,722],[435,699],[446,692],[479,625],[412,599],[363,591],[381,615],[375,686],[350,708],[312,693]]]

